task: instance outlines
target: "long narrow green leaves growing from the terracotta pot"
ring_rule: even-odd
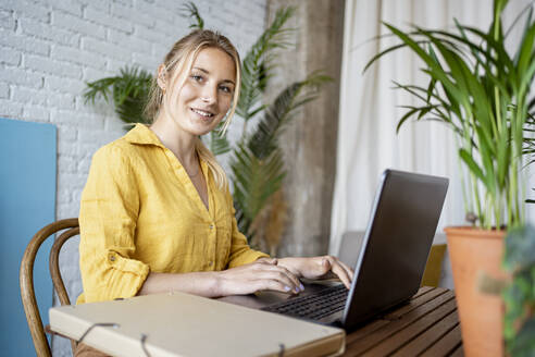
[[[522,152],[530,144],[524,140],[523,130],[535,106],[527,100],[535,72],[535,22],[530,10],[522,40],[511,57],[505,47],[500,19],[507,2],[495,1],[494,21],[487,33],[458,22],[457,33],[418,26],[405,33],[385,24],[401,44],[366,64],[368,69],[400,48],[409,48],[425,63],[422,71],[430,78],[428,86],[397,84],[423,103],[405,107],[408,111],[398,130],[410,118],[438,120],[453,130],[460,143],[459,158],[469,171],[466,207],[485,229],[522,225],[525,219],[525,193],[519,172]]]

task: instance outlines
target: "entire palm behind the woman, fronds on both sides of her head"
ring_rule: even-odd
[[[283,233],[285,216],[283,178],[286,174],[278,137],[284,127],[295,118],[296,111],[319,95],[323,84],[331,81],[320,72],[310,73],[302,81],[284,88],[275,100],[264,104],[264,91],[276,66],[276,50],[289,46],[288,35],[294,30],[285,27],[294,15],[294,8],[284,8],[275,13],[273,22],[246,53],[242,63],[240,98],[236,114],[244,120],[241,135],[233,146],[223,123],[202,137],[214,155],[231,155],[231,181],[238,227],[246,233],[257,248],[263,247],[274,254]],[[191,20],[189,28],[202,29],[204,21],[194,2],[187,2],[182,15]],[[138,69],[124,69],[115,77],[107,77],[87,84],[84,97],[95,104],[101,96],[105,101],[113,98],[115,111],[126,123],[148,123],[142,108],[148,99],[151,76]],[[250,128],[254,122],[254,128]],[[272,222],[266,222],[266,220]],[[264,226],[271,227],[266,232]],[[271,237],[265,242],[265,237]],[[252,241],[251,241],[252,239]]]

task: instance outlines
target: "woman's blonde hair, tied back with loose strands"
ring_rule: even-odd
[[[194,65],[197,54],[206,48],[216,48],[227,53],[234,60],[236,67],[236,86],[234,89],[233,103],[226,114],[225,123],[222,128],[222,132],[225,133],[238,104],[239,87],[241,83],[239,54],[228,38],[210,29],[197,29],[181,38],[173,45],[171,51],[164,58],[163,65],[165,67],[166,81],[169,83],[169,87],[182,88],[189,75],[189,72],[191,71],[191,66]],[[174,94],[174,96],[177,96],[178,90],[175,90]],[[176,102],[176,98],[166,98],[164,96],[164,91],[158,85],[157,73],[157,76],[152,79],[149,100],[145,108],[146,116],[153,121],[154,118],[157,118],[162,104],[164,102],[167,103],[167,101]],[[170,106],[170,108],[173,107]],[[224,188],[228,183],[225,171],[220,165],[213,153],[204,146],[204,144],[202,144],[200,138],[197,138],[196,140],[195,150],[199,158],[207,162],[217,187]]]

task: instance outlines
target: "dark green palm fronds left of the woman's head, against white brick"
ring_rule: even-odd
[[[99,97],[107,102],[113,99],[115,112],[125,123],[149,123],[144,114],[144,108],[149,98],[152,76],[145,70],[124,67],[120,75],[89,82],[84,91],[85,102],[91,102]]]

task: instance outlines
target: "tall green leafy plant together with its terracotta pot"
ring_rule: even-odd
[[[456,30],[414,26],[410,32],[385,24],[400,44],[376,54],[409,48],[424,63],[426,87],[396,84],[421,104],[408,106],[397,130],[409,118],[438,120],[455,133],[463,167],[466,218],[471,226],[445,231],[453,270],[464,352],[468,356],[503,355],[502,300],[477,288],[481,276],[507,279],[501,270],[507,231],[525,224],[526,183],[522,175],[523,130],[535,72],[535,22],[525,26],[508,52],[501,14],[508,0],[494,1],[487,32],[456,21]],[[519,15],[514,25],[521,23]],[[509,239],[515,239],[510,236]]]

